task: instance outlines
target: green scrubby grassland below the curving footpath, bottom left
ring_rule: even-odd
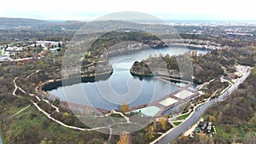
[[[15,111],[14,111],[15,110]],[[16,112],[14,107],[10,109],[10,113]],[[14,137],[18,137],[16,141],[24,142],[24,137],[30,138],[27,141],[41,141],[44,137],[56,139],[68,143],[84,142],[80,137],[84,135],[96,135],[95,131],[79,131],[71,130],[46,118],[35,107],[29,107],[24,112],[20,112],[15,117],[9,118],[8,129],[4,131],[5,142],[11,143]],[[1,134],[1,131],[0,131]],[[2,135],[2,134],[1,134]],[[34,136],[32,136],[34,135]]]

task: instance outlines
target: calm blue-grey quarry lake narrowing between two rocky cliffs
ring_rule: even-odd
[[[118,109],[126,103],[136,107],[176,91],[179,87],[156,78],[138,78],[132,76],[130,68],[134,61],[145,60],[151,55],[183,55],[188,50],[184,47],[162,49],[143,49],[129,55],[116,55],[108,59],[113,66],[113,74],[106,80],[86,81],[80,84],[65,85],[48,90],[49,94],[60,97],[61,101],[69,101],[90,107],[106,110]],[[208,49],[193,49],[198,54],[207,54]]]

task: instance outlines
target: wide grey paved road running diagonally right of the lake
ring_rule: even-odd
[[[244,68],[245,71],[246,67]],[[166,134],[164,137],[162,137],[159,141],[155,143],[159,144],[167,144],[168,142],[175,139],[178,135],[181,135],[184,131],[189,130],[189,127],[194,125],[199,118],[201,118],[201,115],[203,112],[207,110],[208,107],[211,107],[214,103],[217,103],[218,101],[223,101],[228,95],[230,95],[239,84],[241,84],[248,76],[250,72],[246,72],[242,78],[238,79],[236,84],[233,84],[230,89],[224,92],[223,95],[219,95],[218,98],[212,99],[211,101],[207,101],[201,107],[198,107],[198,109],[194,112],[194,114],[186,121],[184,121],[182,124],[178,125],[174,130],[170,131],[168,134]]]

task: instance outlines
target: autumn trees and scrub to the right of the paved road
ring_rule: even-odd
[[[238,61],[254,65],[255,48],[232,49],[240,52]],[[230,52],[231,53],[231,52]],[[236,53],[235,53],[236,54]],[[235,55],[234,54],[234,55]],[[243,57],[247,54],[247,58]],[[249,54],[249,55],[248,55]],[[225,54],[227,55],[227,54]],[[203,118],[212,121],[216,126],[217,135],[210,138],[199,134],[194,138],[181,138],[172,141],[173,144],[230,144],[255,142],[253,134],[256,131],[256,66],[250,76],[225,101],[218,102],[205,112]]]

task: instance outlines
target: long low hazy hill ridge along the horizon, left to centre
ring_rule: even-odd
[[[33,28],[53,28],[58,29],[64,27],[67,29],[78,29],[84,26],[87,22],[79,20],[67,20],[67,21],[55,21],[55,20],[36,20],[36,19],[26,19],[26,18],[6,18],[0,17],[0,27],[3,28],[13,28],[18,26],[32,26]],[[170,29],[170,26],[154,26],[154,25],[145,25],[137,24],[128,21],[121,20],[107,20],[107,21],[91,21],[88,25],[88,29],[99,30],[99,29],[112,29],[115,27],[133,27],[135,29],[154,29],[154,32]]]

